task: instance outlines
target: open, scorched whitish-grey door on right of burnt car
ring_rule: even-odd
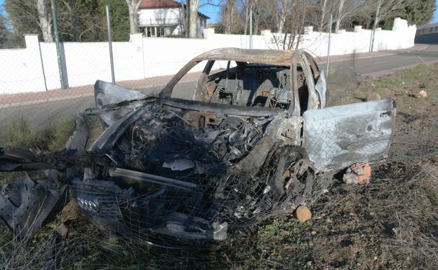
[[[303,147],[319,171],[387,158],[395,127],[392,99],[311,109],[303,114]]]

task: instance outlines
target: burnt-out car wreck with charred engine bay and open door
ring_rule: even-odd
[[[197,81],[175,87],[199,62]],[[225,69],[216,69],[218,62]],[[394,100],[326,107],[324,72],[303,50],[212,50],[159,95],[95,83],[96,107],[64,151],[0,149],[0,216],[32,234],[67,187],[93,220],[168,248],[223,241],[310,203],[332,175],[387,157]],[[105,131],[86,149],[86,117]]]

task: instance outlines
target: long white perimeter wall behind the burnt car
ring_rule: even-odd
[[[331,55],[369,51],[371,30],[356,27],[354,31],[332,34]],[[396,18],[392,31],[376,31],[374,51],[409,48],[414,45],[415,34],[415,26],[409,27],[406,20]],[[253,36],[253,48],[281,48],[281,44],[274,42],[274,35],[263,31]],[[40,43],[36,35],[26,35],[25,41],[25,49],[0,50],[0,94],[60,88],[55,43]],[[204,29],[204,39],[145,38],[142,34],[133,34],[129,42],[112,44],[116,81],[175,74],[200,53],[214,48],[248,48],[248,41],[244,35],[214,34],[214,29]],[[328,34],[312,32],[311,27],[307,27],[300,48],[324,56],[327,47]],[[90,85],[97,79],[111,81],[106,42],[61,43],[61,55],[69,87]]]

